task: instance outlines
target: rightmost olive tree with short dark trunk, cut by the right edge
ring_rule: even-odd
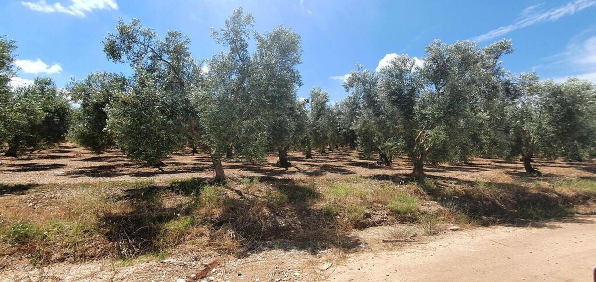
[[[539,175],[532,158],[588,157],[594,148],[596,97],[592,83],[572,78],[540,82],[535,73],[511,79],[511,156],[521,156],[526,173]]]

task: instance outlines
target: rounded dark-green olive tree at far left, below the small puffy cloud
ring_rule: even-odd
[[[72,109],[66,93],[59,91],[51,78],[38,77],[32,85],[14,89],[3,106],[7,110],[2,117],[8,143],[5,156],[17,157],[23,148],[65,140]]]

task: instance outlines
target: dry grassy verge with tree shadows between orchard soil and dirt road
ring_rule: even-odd
[[[182,179],[23,187],[2,186],[0,255],[25,255],[35,264],[163,259],[185,247],[231,255],[263,244],[349,250],[360,243],[349,235],[355,228],[407,223],[434,235],[448,224],[561,218],[596,199],[591,179],[243,178],[226,185]]]

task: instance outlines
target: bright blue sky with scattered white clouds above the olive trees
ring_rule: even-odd
[[[375,69],[393,53],[423,58],[433,39],[484,46],[511,38],[516,52],[502,60],[512,72],[534,68],[543,79],[596,82],[596,0],[3,0],[0,35],[18,44],[15,83],[44,75],[63,87],[93,70],[129,72],[108,61],[101,46],[119,17],[139,18],[160,35],[179,30],[193,41],[194,57],[209,58],[222,49],[210,27],[221,27],[240,6],[253,14],[259,32],[284,24],[302,36],[300,97],[318,85],[340,100],[343,76],[355,63]]]

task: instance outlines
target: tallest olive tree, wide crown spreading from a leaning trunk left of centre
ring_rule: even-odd
[[[181,137],[188,134],[210,153],[216,181],[225,179],[222,160],[232,146],[237,156],[262,160],[268,144],[268,103],[288,95],[284,91],[299,82],[297,72],[290,72],[300,52],[299,38],[280,27],[257,35],[257,51],[251,55],[253,21],[238,8],[222,29],[212,30],[213,39],[229,49],[213,55],[209,71],[203,72],[202,62],[190,54],[190,40],[181,33],[170,31],[161,39],[138,20],[121,20],[117,33],[104,40],[108,58],[129,63],[134,70],[131,90],[108,111],[116,143],[132,158],[159,165],[188,142]],[[285,49],[290,47],[295,50]],[[274,86],[278,82],[272,79],[280,74],[263,72],[259,63],[280,64],[277,70],[287,81]],[[263,78],[267,80],[259,82]]]

